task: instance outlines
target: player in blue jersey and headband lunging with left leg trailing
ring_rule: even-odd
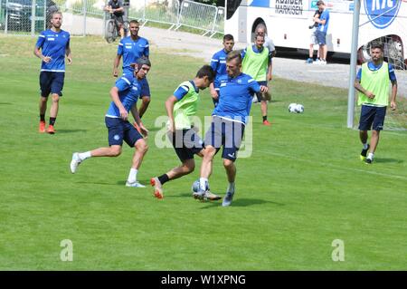
[[[106,113],[105,122],[109,130],[109,148],[93,149],[86,152],[74,152],[71,159],[71,173],[74,174],[78,166],[85,159],[91,157],[118,157],[121,154],[123,140],[130,148],[135,147],[133,162],[128,174],[126,187],[145,188],[137,181],[137,172],[147,152],[147,141],[128,122],[128,111],[131,111],[142,134],[147,136],[148,130],[138,117],[136,102],[140,96],[139,82],[146,77],[151,63],[147,58],[139,58],[135,63],[134,76],[123,75],[110,90],[111,101]]]

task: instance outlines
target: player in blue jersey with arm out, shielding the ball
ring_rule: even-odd
[[[223,207],[232,203],[236,178],[234,161],[251,111],[251,99],[254,93],[268,92],[267,86],[259,85],[250,75],[241,72],[241,53],[229,53],[226,66],[228,75],[220,80],[221,98],[213,110],[211,127],[205,134],[200,188],[194,193],[196,198],[205,198],[205,191],[209,188],[208,179],[212,174],[213,157],[223,147],[223,166],[229,181],[222,201]]]

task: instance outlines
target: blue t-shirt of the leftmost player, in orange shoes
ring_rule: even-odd
[[[50,56],[50,63],[41,63],[42,72],[65,72],[65,53],[70,46],[70,34],[61,30],[51,29],[43,31],[38,37],[35,47],[42,50],[43,56]]]

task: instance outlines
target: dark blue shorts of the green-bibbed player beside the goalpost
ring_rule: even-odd
[[[359,130],[383,130],[386,107],[362,105],[360,111]],[[372,127],[373,124],[373,127]]]

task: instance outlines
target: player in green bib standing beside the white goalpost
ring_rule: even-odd
[[[356,75],[355,89],[359,92],[357,104],[362,105],[359,121],[359,137],[364,148],[360,159],[371,164],[374,151],[379,144],[380,130],[383,130],[386,108],[389,104],[389,84],[392,83],[390,107],[396,109],[397,79],[393,66],[383,61],[383,46],[374,43],[371,46],[372,61],[362,64]],[[372,131],[370,145],[367,144],[367,130]],[[367,152],[369,151],[369,154]]]

